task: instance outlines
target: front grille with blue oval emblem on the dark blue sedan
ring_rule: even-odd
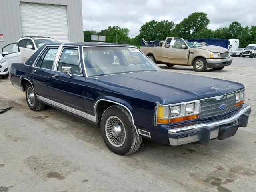
[[[226,108],[220,109],[222,104]],[[223,96],[222,98],[208,98],[200,103],[200,118],[214,117],[225,114],[235,108],[236,95],[234,93]]]

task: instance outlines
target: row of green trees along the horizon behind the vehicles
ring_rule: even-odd
[[[94,34],[106,36],[107,43],[116,43],[116,33],[118,43],[132,44],[140,47],[142,38],[145,40],[164,40],[168,36],[176,36],[184,39],[188,38],[223,38],[239,39],[239,47],[246,47],[248,44],[256,44],[256,26],[243,27],[239,22],[234,21],[228,27],[220,27],[216,30],[208,29],[210,20],[207,14],[195,12],[184,18],[179,24],[172,21],[163,20],[146,22],[140,28],[140,33],[134,37],[129,37],[129,29],[119,26],[109,26]],[[84,41],[91,41],[92,31],[84,31]]]

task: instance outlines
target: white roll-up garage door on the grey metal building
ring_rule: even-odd
[[[47,36],[69,42],[66,6],[20,2],[23,36]]]

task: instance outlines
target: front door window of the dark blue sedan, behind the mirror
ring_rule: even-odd
[[[82,75],[78,61],[78,49],[64,48],[58,62],[58,71],[62,71],[62,67],[71,67],[71,73]]]

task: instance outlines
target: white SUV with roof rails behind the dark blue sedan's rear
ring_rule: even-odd
[[[16,42],[20,48],[21,61],[26,62],[42,45],[58,43],[50,37],[28,36],[18,39]]]

